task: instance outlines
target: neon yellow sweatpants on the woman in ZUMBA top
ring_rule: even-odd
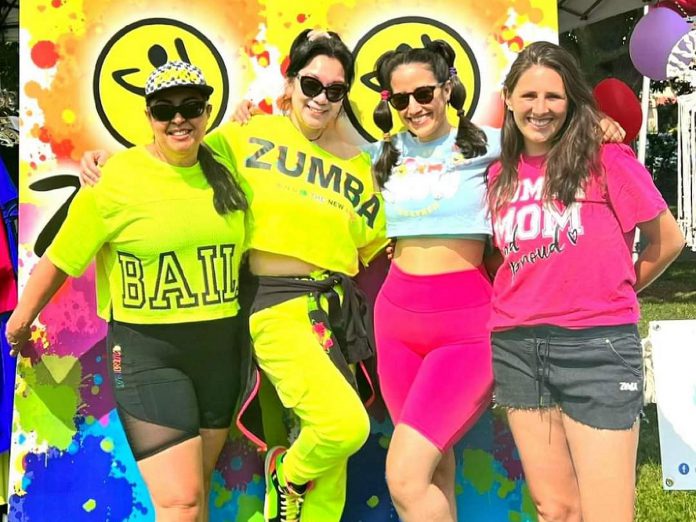
[[[304,522],[338,522],[346,497],[348,457],[365,443],[367,412],[324,352],[308,317],[309,297],[254,313],[249,319],[259,367],[281,402],[300,419],[300,433],[283,461],[287,480],[313,481]]]

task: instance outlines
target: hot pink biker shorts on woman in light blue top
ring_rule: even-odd
[[[441,451],[490,402],[490,301],[483,267],[412,275],[392,263],[375,302],[377,370],[392,421]]]

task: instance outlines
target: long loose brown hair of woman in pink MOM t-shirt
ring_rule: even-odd
[[[505,78],[503,93],[509,97],[522,74],[539,65],[556,71],[563,80],[568,109],[563,127],[553,139],[546,157],[543,199],[556,198],[569,205],[590,175],[599,172],[600,113],[592,89],[575,58],[558,45],[535,42],[524,49]],[[502,131],[502,170],[488,192],[492,212],[508,203],[517,190],[517,164],[524,150],[524,138],[512,111],[505,111]]]

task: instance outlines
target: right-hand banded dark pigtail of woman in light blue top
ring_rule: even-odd
[[[488,140],[486,139],[486,134],[466,116],[466,111],[464,110],[466,88],[459,79],[457,69],[454,67],[454,59],[456,57],[454,49],[444,40],[433,40],[427,43],[425,48],[436,55],[442,56],[447,64],[447,74],[452,87],[449,104],[457,111],[459,118],[455,143],[465,158],[483,156],[488,150]],[[439,76],[438,79],[440,79]]]

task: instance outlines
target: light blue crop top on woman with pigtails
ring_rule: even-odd
[[[500,130],[482,127],[488,139],[483,156],[466,159],[455,145],[457,129],[422,143],[408,132],[392,137],[399,164],[382,188],[389,237],[492,234],[484,173],[500,155]],[[367,147],[373,163],[381,142]]]

